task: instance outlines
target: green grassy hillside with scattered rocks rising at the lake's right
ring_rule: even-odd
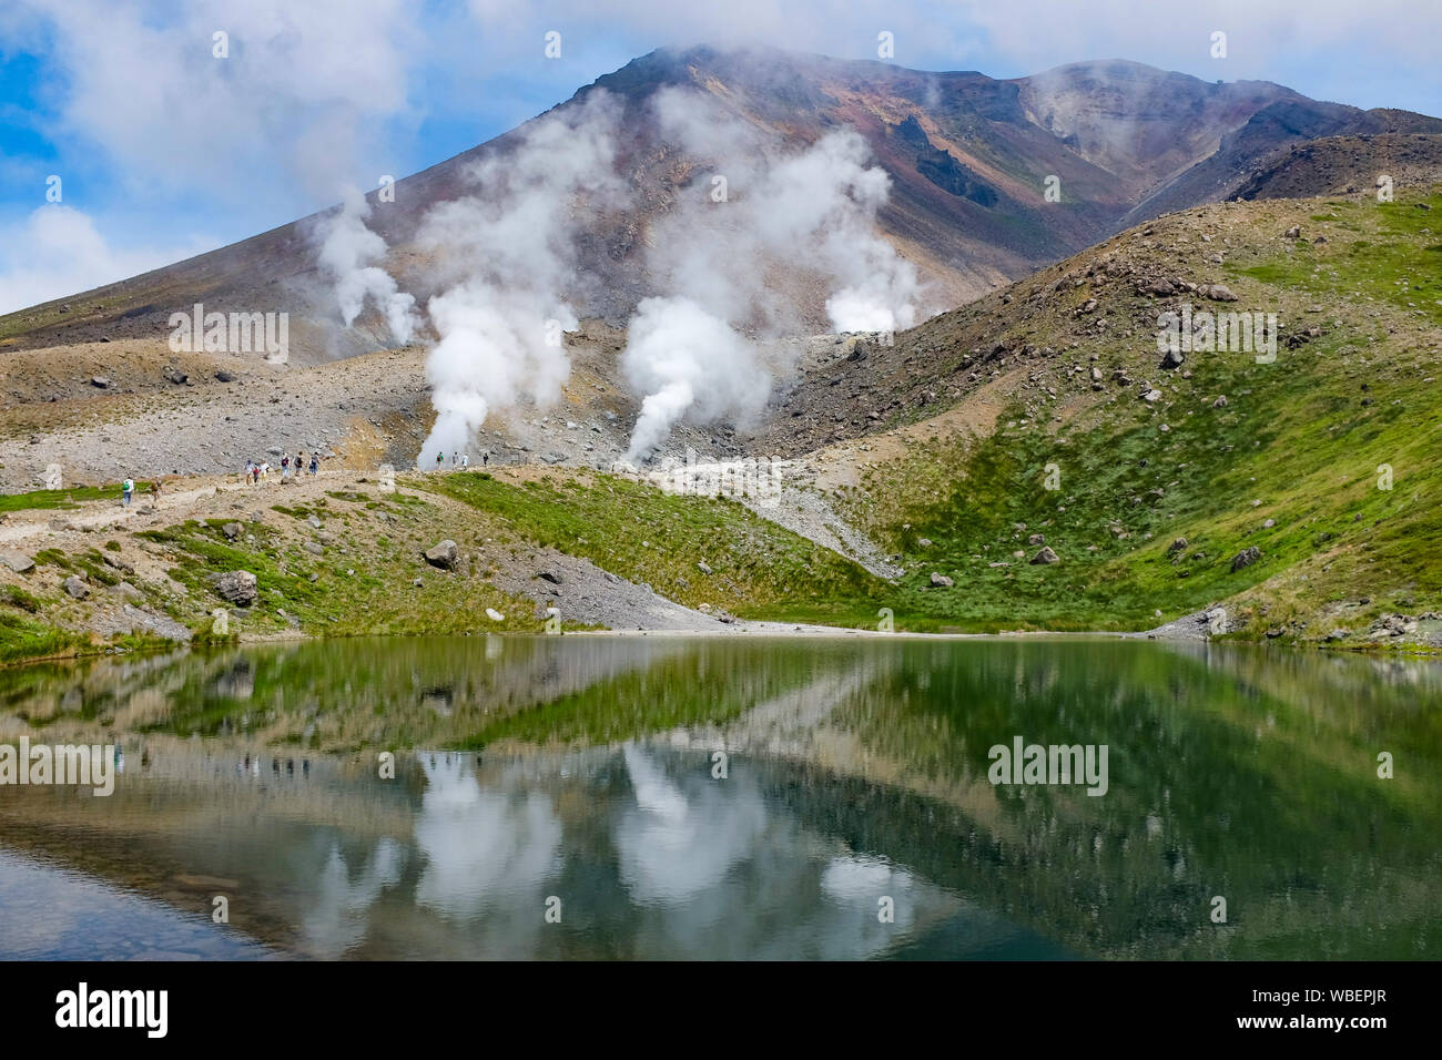
[[[1292,224],[1301,238],[1285,237]],[[1345,643],[1383,614],[1442,610],[1439,228],[1438,195],[1229,203],[1041,274],[1050,304],[1025,339],[1063,352],[1024,363],[996,433],[917,446],[851,498],[906,555],[898,622],[1146,629],[1224,603],[1239,635],[1345,629]],[[1119,265],[1133,273],[1096,283]],[[1141,294],[1132,275],[1224,281],[1237,301]],[[1025,284],[1014,294],[1037,301]],[[1204,352],[1159,368],[1155,316],[1180,299],[1278,313],[1275,363]],[[1030,562],[1034,534],[1060,562]],[[1247,548],[1260,558],[1233,571]],[[955,587],[930,587],[932,571]]]

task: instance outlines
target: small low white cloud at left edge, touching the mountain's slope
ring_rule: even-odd
[[[213,247],[192,238],[180,247],[118,249],[95,221],[71,206],[40,206],[0,232],[0,313],[125,280]]]

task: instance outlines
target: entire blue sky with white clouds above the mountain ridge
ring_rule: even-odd
[[[1442,115],[1436,0],[7,0],[0,312],[245,238],[447,159],[662,45],[1019,76],[1126,58]],[[1080,17],[1079,17],[1080,14]],[[548,30],[561,58],[544,55]],[[1211,33],[1227,56],[1211,56]],[[213,55],[226,33],[228,55]],[[61,202],[46,179],[61,177]]]

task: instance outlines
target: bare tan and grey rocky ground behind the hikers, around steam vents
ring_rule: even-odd
[[[623,342],[588,323],[568,343],[559,399],[493,414],[472,463],[485,453],[500,464],[616,466],[640,404],[620,379]],[[777,374],[797,342],[766,346]],[[418,346],[317,365],[172,353],[138,339],[14,350],[0,356],[0,489],[39,489],[56,463],[68,485],[104,485],[234,473],[248,459],[278,466],[281,453],[298,450],[352,470],[408,469],[434,421],[430,394]],[[684,460],[688,447],[702,459],[743,451],[730,427],[679,425],[649,466]]]

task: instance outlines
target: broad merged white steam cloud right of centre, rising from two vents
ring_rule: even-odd
[[[663,137],[709,169],[656,225],[647,252],[665,297],[640,303],[622,355],[627,382],[646,395],[626,454],[633,461],[682,420],[760,411],[770,374],[738,329],[799,332],[796,291],[806,283],[826,293],[836,330],[910,327],[920,297],[916,268],[877,234],[891,180],[867,164],[857,133],[787,151],[685,89],[659,94],[656,115]]]

